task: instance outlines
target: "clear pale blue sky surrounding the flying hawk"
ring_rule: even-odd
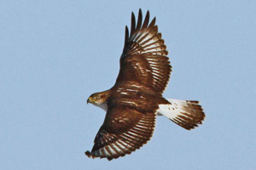
[[[108,2],[108,3],[107,3]],[[158,117],[154,137],[118,160],[89,159],[131,11],[150,11],[172,63],[164,96],[201,101],[186,131]],[[256,1],[0,2],[0,169],[256,168]]]

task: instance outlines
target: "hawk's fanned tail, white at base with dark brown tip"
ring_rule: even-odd
[[[198,124],[202,124],[205,119],[205,113],[198,101],[167,100],[170,104],[160,104],[157,115],[166,116],[172,122],[188,130],[198,127]]]

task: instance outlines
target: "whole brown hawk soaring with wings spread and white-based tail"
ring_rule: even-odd
[[[187,130],[202,124],[205,113],[198,101],[163,98],[172,71],[167,54],[155,17],[149,23],[147,12],[143,21],[139,9],[136,23],[131,13],[131,31],[125,26],[125,46],[113,88],[91,94],[87,100],[107,113],[86,156],[110,161],[131,154],[151,139],[156,116],[166,116]]]

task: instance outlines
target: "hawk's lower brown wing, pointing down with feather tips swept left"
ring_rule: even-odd
[[[154,132],[155,114],[141,113],[131,107],[119,105],[109,108],[94,146],[86,151],[89,157],[112,160],[146,144]]]

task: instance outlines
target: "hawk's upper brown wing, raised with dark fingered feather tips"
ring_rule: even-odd
[[[116,84],[133,81],[153,88],[162,94],[169,81],[172,66],[166,55],[166,45],[155,25],[155,18],[148,25],[149,12],[143,22],[139,10],[137,24],[131,14],[131,32],[125,27],[125,47],[120,58],[120,70]]]

